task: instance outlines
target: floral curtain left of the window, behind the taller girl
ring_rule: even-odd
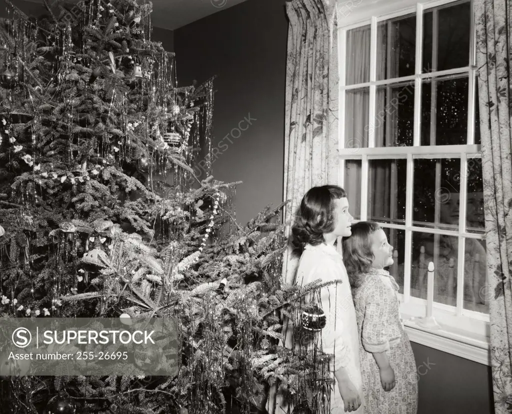
[[[284,194],[293,223],[311,187],[336,183],[338,172],[338,53],[335,0],[291,0],[286,67]],[[293,283],[297,257],[289,250],[283,279]]]

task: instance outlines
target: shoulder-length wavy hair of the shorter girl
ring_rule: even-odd
[[[347,268],[350,286],[358,288],[362,277],[370,271],[374,259],[370,236],[382,229],[373,221],[352,224],[352,235],[342,239],[343,263]]]

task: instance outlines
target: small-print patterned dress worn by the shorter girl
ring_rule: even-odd
[[[367,414],[416,414],[418,410],[416,363],[400,319],[397,291],[397,283],[384,269],[371,269],[354,291]],[[383,351],[395,372],[395,387],[389,392],[382,388],[372,354]]]

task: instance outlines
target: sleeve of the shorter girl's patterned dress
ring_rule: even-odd
[[[388,313],[390,297],[379,278],[372,278],[364,292],[365,316],[362,321],[362,346],[368,352],[384,352],[390,349],[388,340]]]

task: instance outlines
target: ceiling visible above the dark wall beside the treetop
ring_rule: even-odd
[[[28,0],[42,3],[42,0]],[[151,21],[154,27],[175,30],[210,14],[235,6],[246,0],[152,0]],[[65,0],[77,3],[77,0]],[[16,2],[15,2],[16,3]],[[52,0],[49,2],[52,3]]]

